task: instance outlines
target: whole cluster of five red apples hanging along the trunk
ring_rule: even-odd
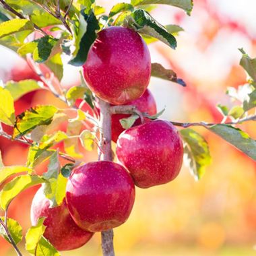
[[[110,27],[98,33],[83,66],[84,79],[94,94],[113,105],[129,104],[156,115],[156,102],[147,89],[151,60],[148,46],[137,32]],[[81,247],[94,232],[123,224],[135,200],[135,185],[148,188],[172,181],[181,170],[183,143],[168,121],[138,119],[124,130],[112,116],[112,137],[119,163],[88,162],[73,170],[66,197],[50,207],[42,189],[31,208],[32,224],[46,217],[44,236],[59,250]]]

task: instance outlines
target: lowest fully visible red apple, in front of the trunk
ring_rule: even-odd
[[[89,162],[73,170],[67,182],[69,212],[80,228],[90,232],[123,224],[135,199],[130,174],[120,164]]]

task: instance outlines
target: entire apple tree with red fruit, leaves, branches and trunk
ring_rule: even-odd
[[[238,90],[228,90],[235,100],[232,108],[217,106],[223,115],[220,123],[160,119],[164,110],[157,113],[148,90],[150,77],[184,90],[186,84],[175,71],[151,63],[147,44],[160,40],[174,50],[173,34],[181,30],[150,15],[156,4],[179,7],[188,15],[193,7],[191,0],[131,0],[106,13],[94,0],[0,0],[0,44],[23,57],[38,77],[2,82],[0,87],[0,136],[29,147],[26,166],[0,162],[0,234],[18,255],[22,226],[8,218],[8,208],[34,185],[41,187],[24,238],[28,253],[60,255],[101,232],[102,253],[110,256],[115,255],[113,228],[129,218],[135,187],[169,183],[183,159],[196,180],[204,174],[210,150],[191,127],[216,133],[256,160],[255,140],[236,127],[256,120],[256,59],[243,49],[241,65],[249,79]],[[60,83],[64,59],[81,67],[81,84],[68,90]],[[66,107],[38,104],[15,115],[14,102],[34,90],[51,92]],[[111,141],[117,143],[115,149]],[[88,151],[98,148],[98,159],[84,163],[79,145]],[[115,155],[118,162],[113,162]],[[47,170],[37,174],[36,166],[46,160]]]

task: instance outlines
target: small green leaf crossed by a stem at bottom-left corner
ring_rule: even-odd
[[[0,218],[3,222],[5,221],[5,218],[3,217],[0,217]],[[20,224],[16,220],[7,218],[7,227],[15,244],[17,245],[18,243],[20,243],[20,241],[22,241],[22,226],[20,226]],[[0,234],[1,236],[3,236],[3,238],[5,238],[6,241],[11,243],[1,224],[0,224]]]

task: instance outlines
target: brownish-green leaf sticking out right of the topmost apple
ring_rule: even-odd
[[[186,86],[185,82],[182,79],[177,78],[177,74],[172,69],[165,69],[159,63],[151,64],[151,76],[168,80],[180,84],[181,86]]]

